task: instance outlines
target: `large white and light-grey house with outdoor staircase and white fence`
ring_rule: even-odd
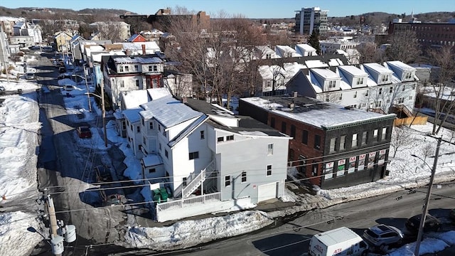
[[[172,96],[141,105],[141,192],[163,222],[228,210],[284,195],[289,137],[250,117],[201,100]],[[137,122],[137,117],[127,116]],[[127,122],[127,124],[128,124]],[[245,154],[245,149],[248,149]],[[154,188],[168,191],[166,202]],[[147,196],[148,195],[148,196]]]

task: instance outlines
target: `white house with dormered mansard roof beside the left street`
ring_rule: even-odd
[[[101,61],[105,92],[114,109],[119,108],[120,92],[163,87],[164,60],[159,55],[105,55]]]

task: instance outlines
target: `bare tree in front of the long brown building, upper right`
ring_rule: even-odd
[[[395,31],[389,42],[390,47],[385,50],[387,60],[411,63],[421,53],[415,31]]]

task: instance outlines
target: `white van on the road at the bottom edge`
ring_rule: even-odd
[[[368,244],[346,227],[314,235],[309,246],[311,256],[356,256],[367,252]]]

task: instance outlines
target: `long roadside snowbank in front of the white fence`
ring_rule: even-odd
[[[176,250],[191,247],[195,241],[210,242],[220,238],[250,233],[274,221],[262,211],[245,211],[204,220],[184,220],[164,228],[128,228],[126,247]]]

